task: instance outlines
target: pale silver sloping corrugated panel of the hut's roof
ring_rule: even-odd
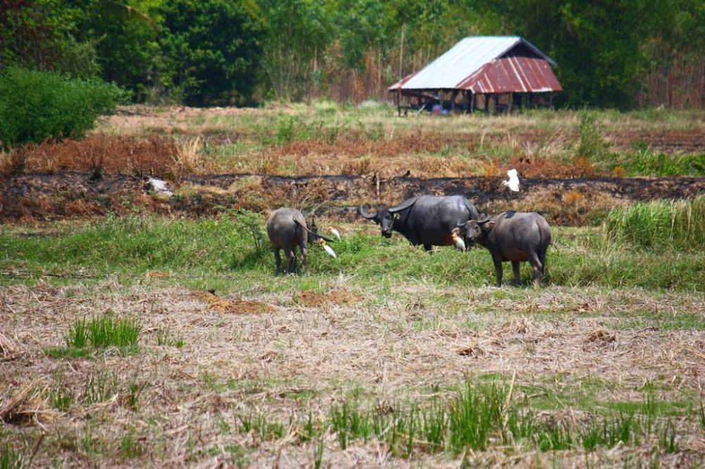
[[[401,84],[404,89],[452,89],[477,72],[482,65],[501,56],[522,41],[518,36],[465,37],[445,54],[426,65],[410,80]]]

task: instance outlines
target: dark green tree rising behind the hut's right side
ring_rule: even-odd
[[[508,30],[556,60],[569,106],[629,107],[649,68],[644,44],[670,0],[491,1]]]

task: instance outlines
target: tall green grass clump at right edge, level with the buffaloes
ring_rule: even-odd
[[[610,241],[639,247],[702,249],[705,246],[705,194],[682,201],[640,202],[607,216]]]

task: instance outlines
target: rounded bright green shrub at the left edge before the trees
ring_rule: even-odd
[[[110,113],[125,92],[100,80],[8,67],[0,73],[0,144],[80,137],[98,115]]]

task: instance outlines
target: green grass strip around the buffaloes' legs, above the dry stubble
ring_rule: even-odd
[[[43,273],[59,277],[80,273],[89,277],[82,280],[85,282],[117,277],[121,283],[131,284],[145,282],[149,270],[163,270],[170,277],[155,281],[193,289],[326,292],[342,274],[355,277],[360,289],[374,293],[379,300],[400,295],[400,284],[467,289],[495,282],[491,256],[485,249],[458,253],[444,248],[429,255],[419,247],[410,246],[400,235],[384,239],[379,235],[357,234],[355,228],[350,225],[348,230],[352,234],[335,243],[338,258],[311,246],[309,275],[277,277],[273,281],[274,256],[269,242],[262,239],[264,218],[260,215],[250,218],[226,215],[203,220],[108,217],[94,226],[68,227],[54,237],[0,235],[0,253],[3,253],[0,268],[17,272],[12,276],[1,275],[0,283],[31,283]],[[570,235],[564,237],[564,232]],[[702,250],[636,251],[624,237],[605,239],[592,228],[557,227],[553,237],[553,246],[548,250],[546,284],[705,291]],[[688,235],[687,239],[695,238]],[[507,263],[505,275],[510,277],[510,274]],[[527,265],[522,268],[522,277],[526,284]],[[73,325],[73,342],[83,337],[81,327],[82,324]],[[90,334],[85,337],[90,341]]]

